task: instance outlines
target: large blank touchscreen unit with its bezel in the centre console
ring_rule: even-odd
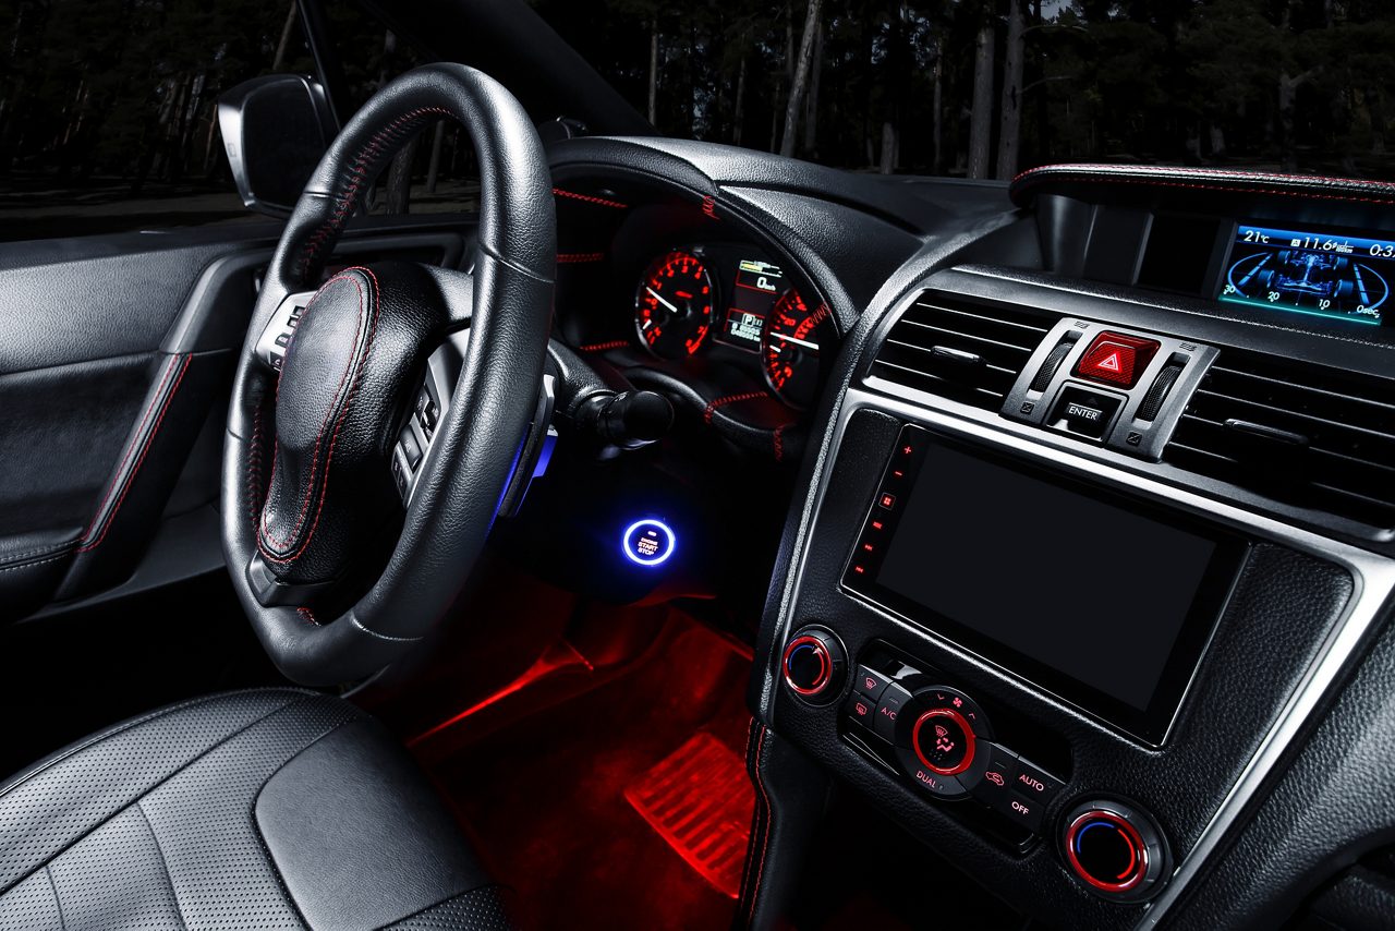
[[[847,579],[1159,741],[1242,550],[1221,532],[908,427]]]

